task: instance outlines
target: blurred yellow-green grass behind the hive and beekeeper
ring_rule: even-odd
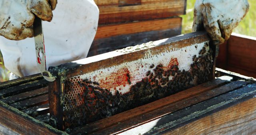
[[[186,15],[182,16],[182,34],[192,32],[193,11],[196,0],[187,0]],[[248,0],[250,10],[233,32],[256,37],[256,0]],[[0,82],[8,80],[9,71],[4,68],[0,53]]]

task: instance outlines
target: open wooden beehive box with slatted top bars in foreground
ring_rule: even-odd
[[[254,48],[256,41],[254,38],[237,35],[232,35],[230,39],[236,41],[235,43],[240,41],[248,43],[246,48]],[[228,41],[228,48],[234,46],[240,48],[244,45]],[[248,54],[253,51],[248,51]],[[228,51],[220,51],[219,59],[231,61],[232,59],[223,57],[227,56],[226,52]],[[235,60],[244,59],[236,54],[232,56]],[[250,62],[254,63],[255,56],[249,57]],[[217,62],[217,65],[221,64],[223,61]],[[239,68],[224,64],[226,68],[232,67],[237,71],[246,69],[244,64]],[[222,69],[216,71],[216,76],[219,78],[212,81],[66,131],[60,131],[52,127],[54,123],[49,123],[48,83],[40,74],[7,81],[0,83],[0,132],[28,135],[79,133],[102,135],[122,132],[126,134],[255,133],[255,79]],[[57,92],[54,94],[58,95]]]

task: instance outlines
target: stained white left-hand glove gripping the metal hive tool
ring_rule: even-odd
[[[0,0],[0,36],[10,40],[33,37],[34,15],[50,22],[56,4],[57,0]]]

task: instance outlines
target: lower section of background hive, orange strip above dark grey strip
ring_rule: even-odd
[[[88,57],[180,35],[181,21],[177,17],[99,26]]]

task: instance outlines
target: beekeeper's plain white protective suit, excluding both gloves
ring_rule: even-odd
[[[43,21],[47,68],[86,58],[98,26],[94,0],[58,0],[52,13],[51,22]],[[4,65],[15,75],[40,73],[34,38],[15,41],[0,36],[0,50]]]

